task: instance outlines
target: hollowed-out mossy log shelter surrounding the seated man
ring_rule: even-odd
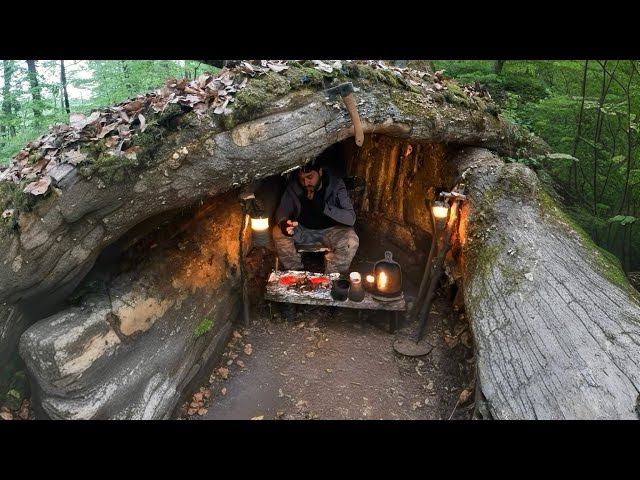
[[[360,148],[325,94],[344,82]],[[546,182],[501,158],[548,147],[486,93],[379,61],[238,62],[72,114],[25,146],[0,182],[0,367],[19,347],[42,416],[171,417],[238,317],[240,189],[272,212],[281,174],[327,152],[365,178],[357,231],[392,239],[415,281],[425,198],[466,184],[450,274],[482,417],[637,418],[638,293]]]

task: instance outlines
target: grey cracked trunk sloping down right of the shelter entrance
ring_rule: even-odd
[[[638,292],[530,169],[483,149],[465,149],[454,161],[467,183],[464,295],[480,412],[637,418]]]

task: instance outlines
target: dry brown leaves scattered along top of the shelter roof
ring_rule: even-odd
[[[300,60],[299,62],[305,62]],[[429,94],[446,88],[444,71],[434,74],[411,68],[387,65],[381,60],[310,60],[315,69],[324,74],[344,71],[345,64],[367,64],[374,69],[392,71],[407,87],[421,88]],[[153,93],[145,93],[129,98],[115,106],[92,112],[89,116],[72,113],[69,124],[49,126],[49,131],[38,139],[25,145],[13,158],[10,167],[0,173],[0,180],[19,183],[33,180],[26,193],[42,195],[48,191],[42,188],[47,181],[38,183],[44,175],[53,177],[53,184],[62,180],[73,168],[88,158],[82,152],[83,144],[101,140],[106,154],[124,155],[135,160],[136,150],[132,137],[144,132],[150,115],[164,111],[169,104],[177,103],[197,115],[213,113],[229,114],[234,96],[243,89],[250,77],[261,76],[268,72],[281,73],[289,68],[286,60],[241,61],[232,68],[222,68],[216,74],[203,73],[197,79],[169,78],[165,84]],[[478,86],[464,87],[467,95],[486,95]],[[490,98],[490,97],[489,97]],[[143,114],[144,112],[144,114]],[[37,192],[37,193],[36,193]]]

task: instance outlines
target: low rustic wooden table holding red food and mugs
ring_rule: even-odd
[[[284,284],[280,281],[282,277],[293,276],[299,279],[298,287],[291,284]],[[300,291],[299,285],[309,286],[312,279],[319,277],[329,277],[331,281],[336,280],[339,274],[332,273],[324,275],[322,273],[313,273],[299,270],[285,270],[279,272],[271,272],[265,291],[265,300],[284,303],[298,303],[304,305],[323,305],[328,307],[355,308],[358,310],[388,310],[393,312],[393,316],[389,319],[389,331],[395,332],[398,328],[398,312],[407,310],[407,303],[404,295],[396,300],[379,300],[375,298],[371,292],[365,291],[364,300],[361,302],[353,302],[351,300],[334,300],[331,297],[331,284],[326,286]],[[308,281],[306,281],[308,280]]]

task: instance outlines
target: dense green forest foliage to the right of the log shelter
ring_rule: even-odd
[[[507,60],[497,74],[490,60],[434,63],[460,81],[483,83],[505,118],[551,146],[556,153],[546,157],[507,161],[548,174],[594,241],[622,260],[626,270],[639,270],[640,229],[630,228],[640,207],[637,62],[586,62],[584,98],[583,60]]]

